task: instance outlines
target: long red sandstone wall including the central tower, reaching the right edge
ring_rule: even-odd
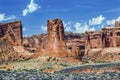
[[[48,20],[47,26],[47,35],[34,36],[27,40],[30,48],[43,49],[42,54],[47,53],[47,55],[58,57],[71,56],[80,59],[90,54],[98,60],[98,57],[95,57],[98,54],[94,54],[96,51],[91,53],[92,49],[120,46],[120,27],[118,26],[106,27],[101,31],[88,32],[88,34],[64,34],[63,23],[60,19]]]

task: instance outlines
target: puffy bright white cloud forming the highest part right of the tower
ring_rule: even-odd
[[[105,20],[105,17],[100,15],[97,18],[92,18],[91,20],[89,20],[89,25],[100,25],[103,20]]]

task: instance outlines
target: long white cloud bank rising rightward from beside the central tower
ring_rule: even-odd
[[[68,21],[64,22],[65,31],[72,31],[75,33],[84,33],[86,31],[95,31],[98,26],[101,26],[105,20],[105,17],[100,15],[96,18],[92,18],[85,22],[75,22],[73,25]],[[108,22],[111,23],[111,22]],[[74,27],[71,27],[74,26]]]

